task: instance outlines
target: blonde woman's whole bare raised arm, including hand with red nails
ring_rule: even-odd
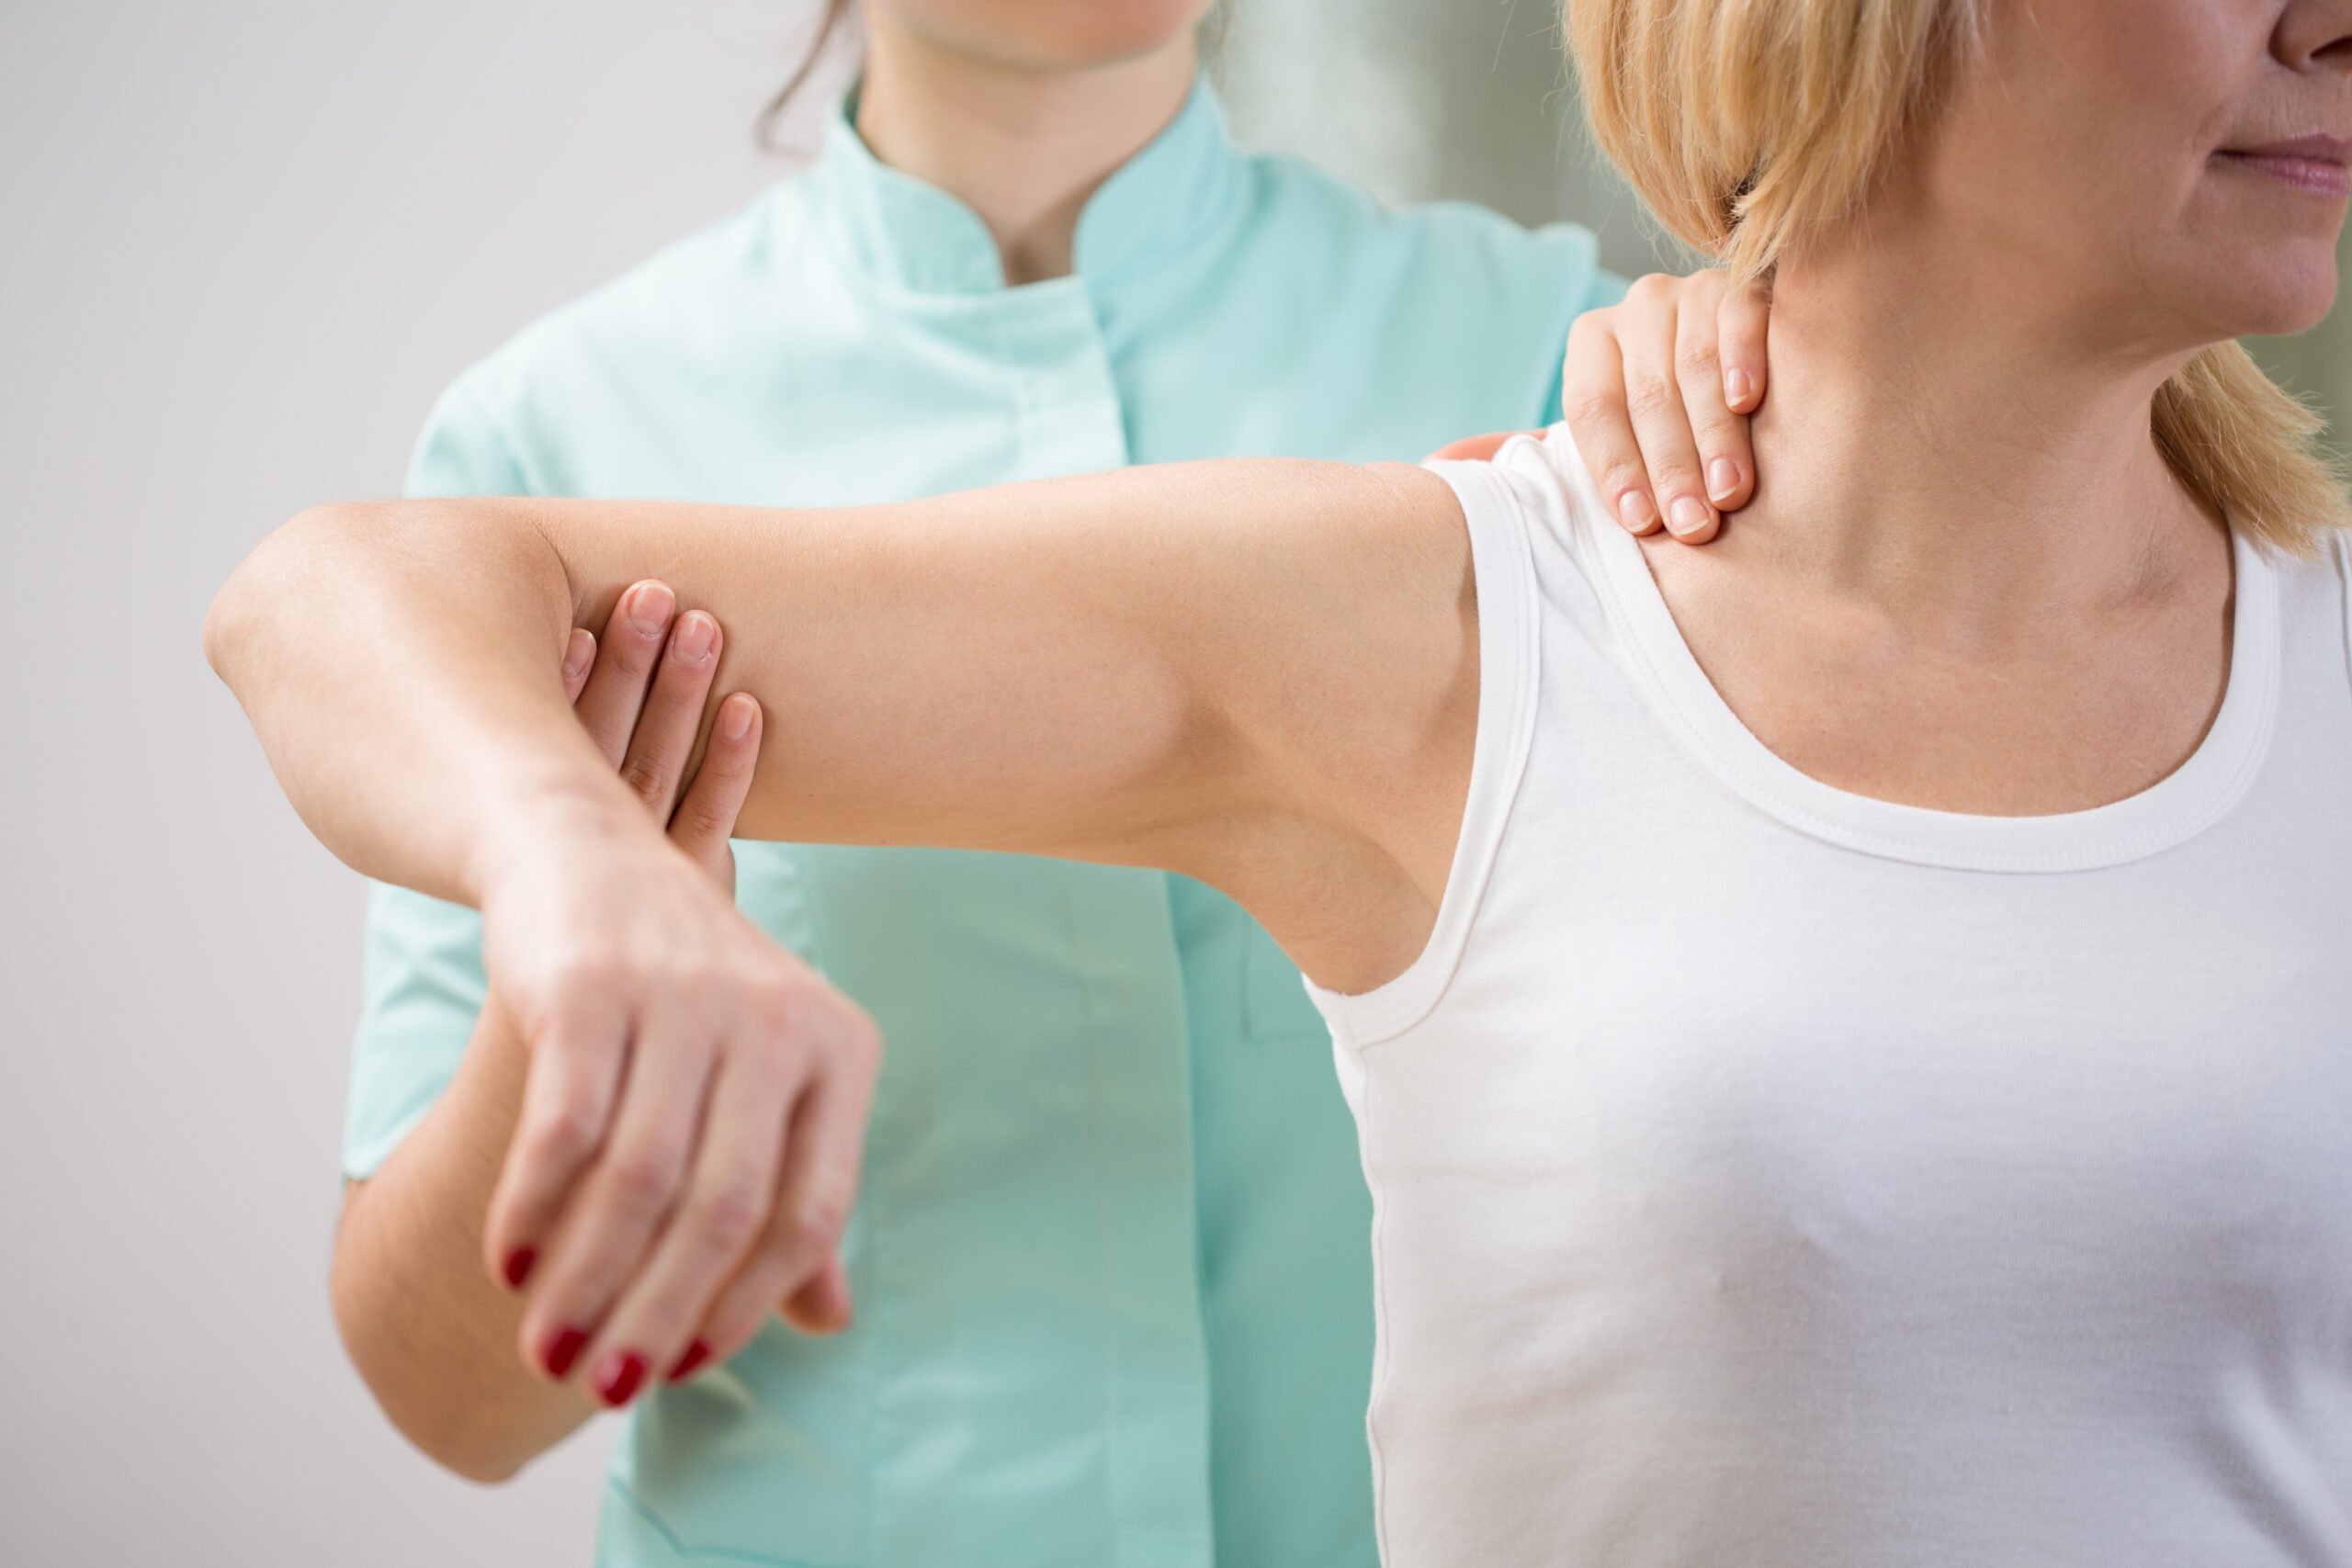
[[[310,512],[223,590],[207,646],[329,846],[482,905],[529,1051],[485,1244],[492,1267],[541,1258],[522,1333],[550,1373],[682,1354],[771,1208],[802,1255],[837,1234],[840,1098],[873,1056],[567,710],[569,630],[647,574],[727,623],[713,689],[767,708],[746,835],[1188,870],[1343,990],[1425,940],[1477,637],[1458,510],[1421,470],[1218,463],[840,512]]]

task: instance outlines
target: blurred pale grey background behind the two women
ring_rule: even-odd
[[[586,1561],[590,1434],[412,1455],[325,1302],[358,886],[198,656],[435,390],[741,202],[809,0],[0,9],[0,1561]],[[1548,0],[1242,0],[1235,120],[1392,197],[1604,228]],[[2352,407],[2352,315],[2298,378]],[[2336,381],[2326,383],[2321,367]]]

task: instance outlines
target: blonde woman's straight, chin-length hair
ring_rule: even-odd
[[[1592,134],[1672,235],[1740,277],[1853,212],[1976,47],[1980,0],[1562,0]],[[2157,393],[2157,449],[2251,538],[2347,522],[2326,421],[2239,343]]]

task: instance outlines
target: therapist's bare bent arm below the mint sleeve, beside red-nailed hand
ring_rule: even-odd
[[[353,1366],[412,1443],[473,1481],[506,1481],[595,1413],[579,1387],[524,1366],[524,1302],[482,1267],[524,1070],[492,1004],[433,1112],[348,1190],[334,1244],[334,1316]]]

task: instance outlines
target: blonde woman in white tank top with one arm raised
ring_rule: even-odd
[[[1315,978],[1392,1563],[2352,1566],[2352,550],[2230,341],[2328,308],[2352,0],[1569,21],[1604,146],[1776,282],[1708,552],[1555,430],[329,508],[240,569],[296,806],[477,900],[534,1039],[492,1255],[659,1276],[628,1175],[708,1192],[706,1103],[858,1048],[579,743],[564,632],[659,571],[767,715],[743,832],[1164,865]]]

